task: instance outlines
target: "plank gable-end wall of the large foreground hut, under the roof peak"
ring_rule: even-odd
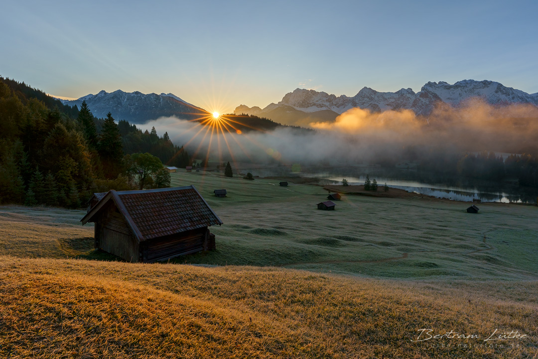
[[[129,262],[138,262],[139,245],[131,228],[114,205],[105,209],[95,222],[96,247]]]

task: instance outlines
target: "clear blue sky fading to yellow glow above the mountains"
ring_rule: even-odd
[[[55,96],[173,93],[222,113],[296,88],[538,92],[536,1],[0,0],[0,12],[0,75]]]

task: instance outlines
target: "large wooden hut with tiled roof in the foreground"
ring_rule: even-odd
[[[112,189],[81,222],[95,223],[95,248],[145,263],[215,249],[208,227],[222,224],[194,186]]]

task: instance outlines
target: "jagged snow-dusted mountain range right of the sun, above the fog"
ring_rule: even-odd
[[[312,122],[334,121],[338,115],[354,107],[376,112],[410,109],[417,115],[427,116],[438,104],[458,107],[471,97],[483,98],[493,105],[529,103],[538,106],[538,93],[527,94],[494,81],[463,80],[454,85],[444,81],[428,82],[418,93],[410,88],[379,92],[364,87],[353,97],[298,88],[286,94],[282,101],[263,109],[239,105],[234,113],[267,117],[273,121],[278,118],[281,123],[306,126]]]

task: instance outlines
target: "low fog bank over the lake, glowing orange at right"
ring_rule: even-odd
[[[395,163],[462,152],[538,152],[538,108],[494,107],[480,100],[463,107],[443,105],[428,117],[411,110],[370,112],[354,108],[335,122],[310,124],[316,131],[286,128],[271,132],[222,133],[175,117],[147,123],[189,154],[211,161],[315,164]],[[213,133],[212,133],[213,132]]]

